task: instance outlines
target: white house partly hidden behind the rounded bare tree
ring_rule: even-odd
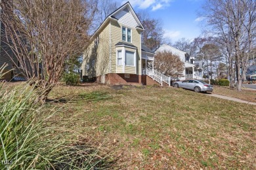
[[[194,58],[190,58],[190,56],[188,55],[188,53],[183,52],[177,48],[174,48],[173,46],[169,46],[167,44],[162,44],[158,50],[156,50],[157,52],[163,52],[163,51],[167,51],[167,52],[172,52],[173,54],[179,56],[179,58],[181,58],[181,61],[184,63],[184,71],[183,71],[183,76],[181,76],[179,79],[180,80],[185,80],[186,78],[194,78],[194,79],[200,79],[197,75],[196,75],[196,71],[194,71],[196,68],[196,65],[194,64]]]

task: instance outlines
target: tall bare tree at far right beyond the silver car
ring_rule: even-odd
[[[255,0],[207,0],[202,16],[212,33],[221,37],[228,51],[229,65],[236,71],[237,90],[241,91],[247,61],[255,46]]]

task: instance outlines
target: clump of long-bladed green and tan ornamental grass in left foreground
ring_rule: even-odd
[[[24,83],[10,89],[0,82],[0,169],[102,167],[96,148],[70,140],[62,135],[65,129],[49,125],[56,110],[41,118],[45,105],[37,101],[43,92],[36,86]]]

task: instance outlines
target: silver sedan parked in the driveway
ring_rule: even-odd
[[[175,86],[175,88],[194,90],[195,92],[213,92],[213,86],[201,80],[184,80],[175,82],[173,86]]]

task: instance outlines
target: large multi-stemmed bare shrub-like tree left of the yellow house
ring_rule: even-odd
[[[26,78],[39,80],[47,97],[62,76],[68,56],[81,54],[89,42],[95,4],[90,0],[12,0],[2,2],[1,9],[6,43]]]

